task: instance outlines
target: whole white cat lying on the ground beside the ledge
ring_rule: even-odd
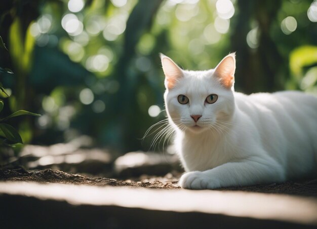
[[[161,55],[183,188],[283,182],[317,174],[317,98],[234,92],[235,55],[188,71]]]

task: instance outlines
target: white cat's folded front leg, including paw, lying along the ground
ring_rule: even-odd
[[[206,171],[187,172],[179,184],[189,189],[213,189],[285,181],[283,167],[271,158],[228,162]]]

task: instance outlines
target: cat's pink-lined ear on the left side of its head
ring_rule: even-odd
[[[162,53],[160,54],[160,57],[165,74],[165,87],[167,89],[172,89],[177,80],[183,77],[183,71],[171,58]]]

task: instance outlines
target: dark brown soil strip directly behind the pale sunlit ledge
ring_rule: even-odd
[[[0,181],[34,181],[39,183],[67,183],[86,184],[97,186],[132,186],[145,188],[177,189],[178,178],[172,174],[165,177],[147,177],[139,179],[111,179],[105,177],[93,177],[86,175],[70,174],[62,171],[0,169]],[[240,190],[246,192],[289,194],[298,196],[317,197],[317,179],[288,181],[285,183],[272,183],[267,185],[254,185],[244,187],[219,188],[218,190]]]

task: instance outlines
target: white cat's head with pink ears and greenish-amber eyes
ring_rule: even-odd
[[[165,106],[173,124],[180,130],[200,133],[229,121],[234,112],[234,54],[206,71],[183,70],[163,54],[161,61]]]

